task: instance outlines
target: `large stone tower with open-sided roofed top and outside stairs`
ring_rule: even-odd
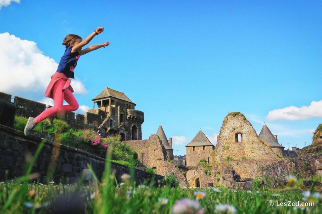
[[[144,112],[135,110],[136,104],[123,92],[106,87],[92,101],[93,109],[88,112],[101,115],[100,124],[97,125],[101,130],[105,130],[107,135],[119,134],[122,140],[142,139]],[[90,116],[87,114],[87,117]]]

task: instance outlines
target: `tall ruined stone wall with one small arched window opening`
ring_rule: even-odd
[[[241,134],[240,140],[238,134]],[[223,120],[217,138],[217,155],[222,177],[225,177],[222,182],[225,184],[234,180],[232,168],[241,178],[255,178],[260,165],[266,166],[280,160],[274,151],[257,137],[251,123],[239,112],[229,113]],[[227,166],[228,162],[230,167]]]

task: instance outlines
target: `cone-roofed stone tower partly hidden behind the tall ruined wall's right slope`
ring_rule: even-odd
[[[276,136],[276,137],[275,137]],[[277,135],[273,135],[270,129],[266,126],[264,123],[264,126],[262,130],[260,131],[260,134],[258,136],[261,140],[263,140],[265,143],[270,145],[270,148],[280,156],[283,156],[283,150],[285,147],[279,144],[277,141]]]

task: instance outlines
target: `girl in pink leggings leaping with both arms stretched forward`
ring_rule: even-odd
[[[29,117],[26,127],[24,128],[24,135],[28,136],[33,128],[41,121],[47,119],[52,124],[49,117],[65,112],[76,111],[78,109],[78,102],[72,94],[73,88],[71,87],[71,78],[74,78],[74,69],[77,65],[77,61],[81,55],[87,54],[90,51],[97,50],[109,45],[109,42],[104,42],[99,45],[90,45],[88,48],[82,50],[82,47],[87,45],[94,36],[104,31],[103,27],[98,27],[92,32],[85,40],[82,40],[80,36],[74,34],[68,34],[63,45],[66,46],[65,53],[62,56],[57,71],[51,76],[51,81],[45,91],[45,96],[54,100],[54,106],[46,109],[37,117]],[[64,100],[69,105],[63,105]]]

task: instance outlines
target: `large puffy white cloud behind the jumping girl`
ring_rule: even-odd
[[[55,60],[43,55],[35,42],[8,32],[0,33],[0,47],[0,91],[14,95],[29,92],[29,99],[43,96],[50,76],[57,69]],[[71,85],[75,93],[87,93],[79,79]]]

